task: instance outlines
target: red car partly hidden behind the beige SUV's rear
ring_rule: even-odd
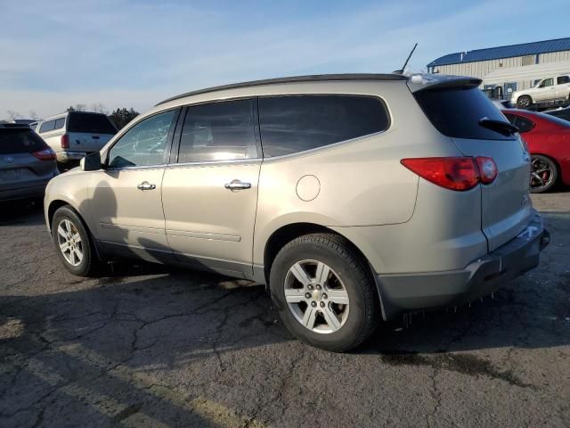
[[[531,192],[546,192],[558,179],[570,185],[570,122],[535,111],[507,109],[502,113],[519,129],[531,153]]]

